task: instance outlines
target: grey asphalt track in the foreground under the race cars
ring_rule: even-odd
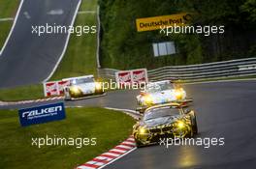
[[[184,89],[194,99],[191,108],[197,112],[198,137],[224,137],[225,145],[208,149],[203,146],[144,147],[114,161],[106,169],[255,168],[256,81],[196,84]],[[68,101],[66,105],[135,109],[137,94],[138,91],[116,91],[102,98]],[[31,105],[5,108],[27,106]]]

